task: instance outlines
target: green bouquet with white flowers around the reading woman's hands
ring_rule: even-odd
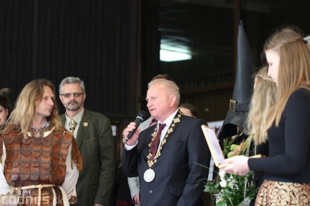
[[[223,154],[227,157],[236,155],[249,157],[251,141],[251,136],[242,141],[240,145],[232,144],[232,141],[225,139]],[[243,206],[249,205],[251,200],[256,198],[258,187],[253,181],[253,172],[248,172],[245,176],[238,176],[220,171],[214,181],[207,181],[204,191],[211,193],[213,205]]]

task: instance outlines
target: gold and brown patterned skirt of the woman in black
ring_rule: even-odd
[[[310,205],[310,183],[285,183],[265,180],[255,205]]]

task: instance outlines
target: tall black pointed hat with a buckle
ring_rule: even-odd
[[[236,68],[234,93],[229,102],[229,111],[218,133],[218,139],[237,135],[237,126],[244,127],[247,111],[249,111],[249,102],[253,91],[254,64],[242,21],[238,27]]]

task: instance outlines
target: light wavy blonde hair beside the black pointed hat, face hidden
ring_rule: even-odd
[[[262,67],[255,75],[255,88],[251,98],[247,128],[256,145],[267,141],[266,122],[276,100],[276,82],[268,76],[268,67]]]

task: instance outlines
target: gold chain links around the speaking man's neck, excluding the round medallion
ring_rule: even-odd
[[[154,141],[154,139],[157,135],[157,132],[158,132],[157,126],[155,127],[154,133],[152,133],[152,141],[149,143],[149,155],[147,155],[147,165],[149,165],[149,168],[151,168],[152,165],[154,165],[154,163],[156,163],[157,159],[161,156],[161,150],[163,149],[163,146],[167,142],[169,134],[174,131],[174,126],[176,126],[176,123],[180,122],[180,117],[182,117],[182,115],[183,115],[182,112],[180,110],[178,110],[178,117],[174,118],[172,124],[170,125],[170,127],[167,130],[165,137],[163,138],[163,141],[161,141],[161,147],[159,148],[158,152],[156,152],[154,159],[151,160],[151,157],[152,157],[151,144],[152,144],[152,141]]]

